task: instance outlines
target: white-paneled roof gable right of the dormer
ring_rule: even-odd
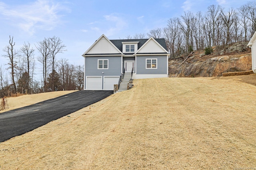
[[[151,37],[134,54],[138,53],[168,53],[168,51],[166,51],[162,45],[160,45],[153,37]]]

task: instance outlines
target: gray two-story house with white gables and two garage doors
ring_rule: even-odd
[[[133,79],[168,77],[170,54],[163,38],[109,40],[102,35],[82,56],[84,90],[113,90],[124,73],[132,72]]]

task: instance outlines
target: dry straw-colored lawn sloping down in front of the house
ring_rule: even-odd
[[[255,80],[136,80],[0,143],[0,169],[256,169]]]

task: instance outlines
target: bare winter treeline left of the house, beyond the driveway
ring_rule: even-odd
[[[61,39],[54,36],[37,42],[35,48],[30,43],[24,43],[20,49],[15,49],[15,42],[10,36],[9,44],[3,49],[8,70],[0,66],[0,97],[16,93],[82,90],[83,66],[74,66],[67,59],[56,59],[58,53],[66,51],[65,47]],[[36,50],[40,54],[38,57],[34,57]],[[34,78],[36,66],[42,71],[42,80]]]

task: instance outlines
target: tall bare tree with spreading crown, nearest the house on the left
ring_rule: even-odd
[[[50,42],[50,55],[52,57],[52,90],[54,89],[54,70],[55,70],[55,57],[58,53],[63,53],[65,50],[65,45],[60,40],[59,37],[53,36],[49,38]]]

